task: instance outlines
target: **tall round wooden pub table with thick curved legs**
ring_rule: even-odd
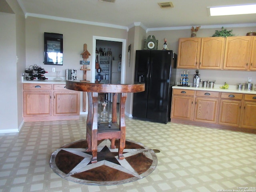
[[[145,84],[97,84],[88,82],[76,82],[66,80],[66,88],[75,91],[87,92],[88,94],[88,116],[86,120],[86,141],[88,143],[87,152],[92,152],[92,163],[97,162],[98,140],[110,139],[111,148],[115,148],[115,140],[119,140],[118,158],[124,159],[125,148],[125,102],[127,93],[142,92]],[[112,93],[112,124],[98,124],[98,93]],[[119,124],[117,123],[116,102],[120,94]]]

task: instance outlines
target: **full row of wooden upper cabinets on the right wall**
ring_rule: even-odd
[[[256,70],[256,37],[180,38],[177,68]]]

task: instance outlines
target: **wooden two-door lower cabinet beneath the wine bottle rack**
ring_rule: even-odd
[[[78,119],[80,92],[65,84],[23,84],[24,121]]]

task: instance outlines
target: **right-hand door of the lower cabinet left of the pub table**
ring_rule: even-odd
[[[79,115],[79,92],[54,92],[54,115]]]

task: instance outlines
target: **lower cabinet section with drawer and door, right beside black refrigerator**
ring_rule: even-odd
[[[173,89],[172,94],[171,118],[192,120],[194,90]]]

